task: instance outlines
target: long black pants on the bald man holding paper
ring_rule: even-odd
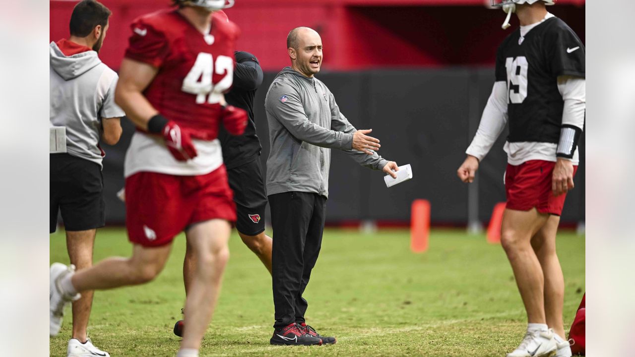
[[[269,196],[269,205],[274,231],[274,328],[282,328],[304,322],[309,305],[302,293],[322,245],[326,197],[309,192],[284,192]]]

